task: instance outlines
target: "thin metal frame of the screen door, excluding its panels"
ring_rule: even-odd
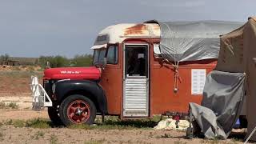
[[[142,114],[125,114],[125,102],[126,102],[126,47],[138,47],[145,46],[147,54],[147,77],[146,77],[146,115]],[[150,116],[150,46],[149,44],[138,44],[138,43],[124,43],[123,45],[123,81],[122,81],[122,115],[123,117],[149,117]],[[138,78],[140,76],[129,76],[130,78]]]

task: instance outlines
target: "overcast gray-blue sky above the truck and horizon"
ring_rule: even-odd
[[[98,32],[117,23],[177,20],[246,22],[255,0],[0,0],[0,54],[91,54]]]

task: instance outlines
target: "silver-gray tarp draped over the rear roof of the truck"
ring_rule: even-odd
[[[171,62],[218,58],[219,35],[242,26],[241,22],[158,22],[160,50]]]

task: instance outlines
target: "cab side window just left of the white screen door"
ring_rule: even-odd
[[[108,64],[118,63],[118,46],[109,46],[106,54],[106,60]]]

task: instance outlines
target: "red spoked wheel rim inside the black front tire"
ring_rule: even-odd
[[[90,106],[82,100],[71,102],[67,107],[67,116],[76,124],[86,122],[90,118]]]

